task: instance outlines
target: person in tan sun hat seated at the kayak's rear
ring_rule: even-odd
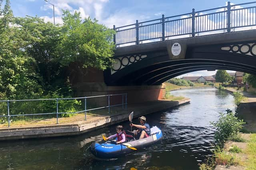
[[[146,123],[146,117],[145,116],[139,117],[139,121],[140,121],[140,125],[135,125],[135,124],[131,123],[130,126],[139,128],[137,130],[138,134],[140,134],[139,139],[149,137],[150,136],[150,125],[148,123]]]

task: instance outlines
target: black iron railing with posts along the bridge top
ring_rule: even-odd
[[[256,4],[243,4],[195,11],[177,16],[164,17],[115,27],[116,34],[113,41],[116,47],[120,45],[138,45],[153,41],[165,41],[181,37],[195,37],[199,35],[241,31],[241,29],[255,29]],[[247,27],[247,28],[245,28]],[[249,27],[249,28],[248,28]]]

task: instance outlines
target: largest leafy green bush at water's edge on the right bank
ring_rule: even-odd
[[[242,125],[245,124],[243,120],[238,119],[234,113],[220,113],[220,118],[216,122],[211,122],[211,124],[216,128],[215,139],[217,143],[225,142],[229,137],[237,134]]]

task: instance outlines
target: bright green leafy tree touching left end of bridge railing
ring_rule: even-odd
[[[60,61],[68,66],[79,63],[82,67],[93,66],[101,70],[109,68],[114,54],[114,43],[108,41],[114,31],[97,20],[87,18],[82,23],[80,13],[63,11],[62,40],[59,45]]]

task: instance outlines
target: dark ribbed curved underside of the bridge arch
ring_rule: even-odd
[[[186,59],[168,61],[137,70],[115,82],[116,85],[160,85],[176,76],[199,70],[234,70],[256,74],[252,66],[218,60]]]

